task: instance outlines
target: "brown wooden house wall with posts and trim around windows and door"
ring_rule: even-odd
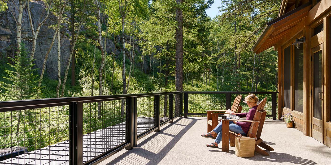
[[[284,107],[284,100],[279,99],[278,101],[278,113],[285,114],[291,113],[294,117],[295,121],[295,128],[303,132],[303,134],[307,136],[312,136],[312,105],[313,105],[313,98],[311,95],[311,89],[313,84],[313,74],[311,73],[311,48],[318,46],[318,43],[323,43],[323,67],[324,67],[324,77],[322,86],[323,90],[325,91],[323,94],[323,107],[324,110],[322,112],[322,119],[323,119],[323,144],[331,148],[331,1],[330,0],[321,0],[312,9],[309,11],[307,17],[303,18],[305,25],[303,26],[300,31],[294,32],[292,36],[288,36],[288,41],[284,43],[284,41],[280,41],[275,45],[275,50],[278,50],[278,91],[279,91],[279,98],[284,98],[284,54],[283,50],[290,44],[295,41],[295,38],[299,38],[301,36],[306,37],[306,42],[304,43],[304,107],[303,113],[298,111],[291,111],[293,110],[293,101],[294,98],[291,97],[291,109]],[[313,35],[313,29],[320,23],[324,24],[324,30],[322,33],[318,35]],[[312,37],[312,38],[311,38]],[[310,39],[311,38],[311,39]],[[322,40],[322,41],[321,41]],[[291,55],[293,56],[293,55]],[[293,60],[291,60],[293,61]],[[294,63],[292,63],[294,64]],[[291,65],[292,65],[291,64]],[[292,67],[291,67],[292,68]],[[291,78],[293,79],[294,70],[291,69]],[[291,80],[293,81],[293,80]],[[293,82],[291,82],[293,84]],[[291,85],[292,86],[292,85]],[[293,89],[291,89],[293,92]],[[291,94],[291,96],[294,93]],[[280,116],[279,116],[280,117]],[[318,128],[315,128],[318,129]]]

